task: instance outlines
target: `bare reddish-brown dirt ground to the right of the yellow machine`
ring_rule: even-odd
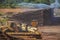
[[[42,34],[42,40],[60,40],[59,26],[44,26],[38,29]]]

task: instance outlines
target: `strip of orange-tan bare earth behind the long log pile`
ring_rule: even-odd
[[[36,11],[36,10],[40,10],[40,9],[28,9],[28,8],[21,8],[21,9],[0,9],[0,12],[2,13],[7,13],[7,12],[14,12],[14,13],[18,13],[18,12],[27,12],[27,11]]]

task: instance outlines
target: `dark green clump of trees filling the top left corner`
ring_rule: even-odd
[[[5,0],[2,3],[0,3],[0,8],[15,8],[15,5],[15,0]]]

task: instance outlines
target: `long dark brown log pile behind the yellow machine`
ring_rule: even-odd
[[[36,20],[38,25],[50,25],[51,24],[51,9],[42,9],[36,11],[27,11],[12,16],[19,22],[30,24],[32,20]]]

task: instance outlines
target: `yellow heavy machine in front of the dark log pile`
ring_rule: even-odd
[[[15,21],[8,21],[7,26],[1,26],[1,31],[7,37],[7,40],[12,38],[21,40],[40,40],[41,33],[38,32],[36,27],[27,26],[26,23],[18,23]]]

